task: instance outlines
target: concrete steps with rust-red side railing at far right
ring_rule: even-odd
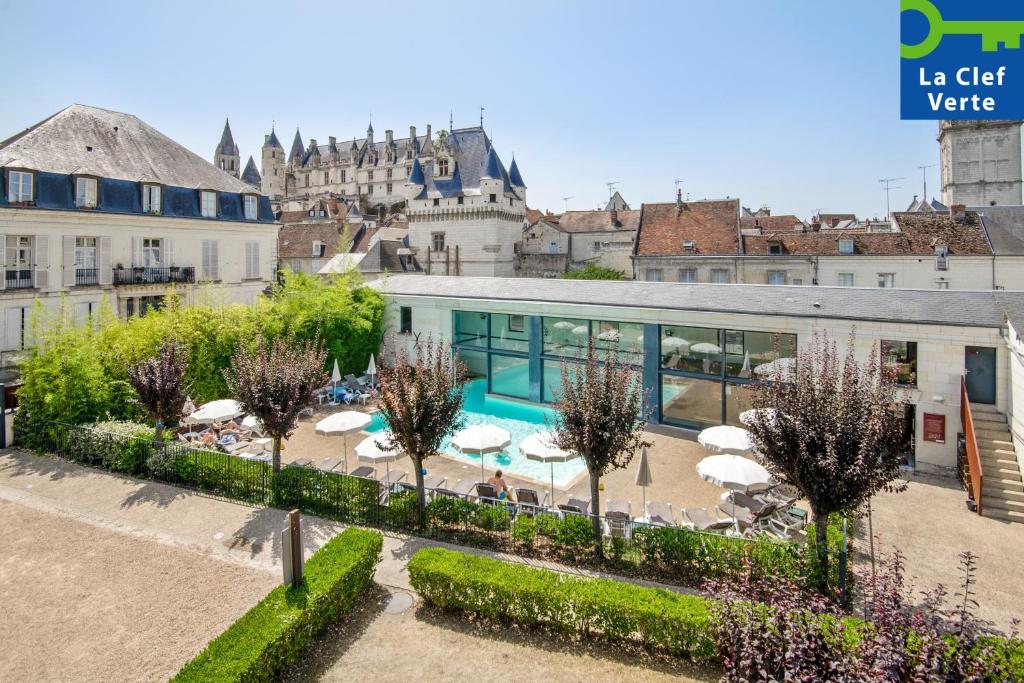
[[[985,476],[981,514],[1024,523],[1024,482],[1007,418],[994,405],[983,403],[971,403],[971,417]]]

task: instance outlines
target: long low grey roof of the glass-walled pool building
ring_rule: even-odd
[[[403,274],[370,283],[383,294],[441,299],[620,306],[1001,328],[1024,319],[1024,292],[893,290],[782,285],[696,285]],[[543,312],[543,311],[538,311]],[[1024,327],[1024,326],[1022,326]]]

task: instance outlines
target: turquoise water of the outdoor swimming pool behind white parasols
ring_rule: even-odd
[[[524,403],[508,400],[487,394],[487,381],[476,379],[466,385],[466,402],[463,407],[466,426],[495,425],[512,435],[512,444],[504,453],[493,453],[483,456],[483,467],[489,476],[495,469],[502,469],[510,474],[537,479],[541,482],[551,481],[551,465],[527,460],[519,453],[519,443],[529,436],[550,429],[555,422],[555,413],[550,408],[536,403]],[[378,432],[385,429],[384,416],[375,413],[367,427],[368,432]],[[451,439],[444,439],[441,450],[457,460],[480,466],[480,456],[463,454],[452,445]],[[427,467],[429,468],[429,463]],[[568,484],[586,467],[583,460],[575,459],[567,463],[555,463],[555,485]],[[452,482],[454,483],[454,482]]]

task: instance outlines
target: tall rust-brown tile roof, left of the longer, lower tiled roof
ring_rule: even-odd
[[[737,254],[739,200],[644,204],[637,254]],[[683,241],[694,243],[683,251]]]

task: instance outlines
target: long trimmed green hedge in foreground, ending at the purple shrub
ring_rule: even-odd
[[[427,548],[409,563],[427,602],[562,633],[599,633],[695,661],[715,656],[705,598],[607,579],[583,579],[477,555]]]

